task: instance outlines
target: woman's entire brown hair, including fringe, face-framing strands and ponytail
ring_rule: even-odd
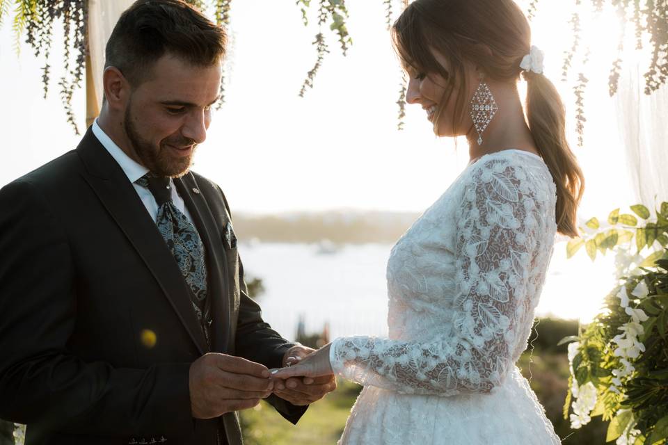
[[[465,97],[463,62],[476,65],[491,79],[515,83],[531,46],[529,22],[512,0],[415,0],[392,26],[392,38],[405,65],[446,79],[434,122],[458,91],[453,129],[461,128],[470,99]],[[447,60],[449,70],[438,63],[432,50]],[[557,231],[578,236],[576,213],[584,176],[566,140],[564,104],[543,74],[525,73],[525,79],[529,129],[557,185]]]

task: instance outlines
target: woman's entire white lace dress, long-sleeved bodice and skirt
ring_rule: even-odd
[[[392,248],[389,338],[333,341],[364,385],[340,444],[544,445],[559,437],[515,366],[552,256],[555,184],[509,149],[468,165]]]

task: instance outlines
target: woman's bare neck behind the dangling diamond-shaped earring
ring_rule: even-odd
[[[498,82],[488,82],[488,85],[499,109],[482,133],[482,145],[478,145],[475,127],[466,135],[470,159],[509,148],[538,154],[517,88]]]

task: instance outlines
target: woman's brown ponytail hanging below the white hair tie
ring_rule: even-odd
[[[557,232],[578,236],[577,209],[584,175],[566,140],[566,111],[559,92],[543,74],[525,72],[529,129],[557,185]]]

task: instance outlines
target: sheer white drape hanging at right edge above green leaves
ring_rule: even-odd
[[[645,70],[634,63],[617,92],[617,123],[637,202],[654,209],[668,201],[668,86],[646,95]]]

